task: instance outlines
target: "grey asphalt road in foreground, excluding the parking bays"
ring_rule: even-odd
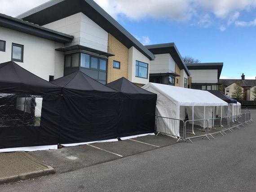
[[[256,111],[252,111],[256,120]],[[194,140],[71,172],[1,185],[31,191],[256,191],[256,121],[215,140]]]

